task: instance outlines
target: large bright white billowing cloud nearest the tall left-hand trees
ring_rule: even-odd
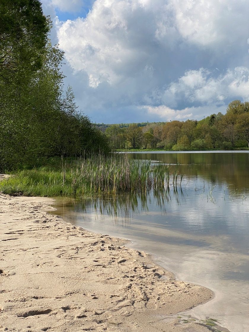
[[[63,23],[58,40],[74,71],[86,71],[89,85],[97,87],[152,68],[157,29],[153,8],[150,0],[96,0],[87,18]]]

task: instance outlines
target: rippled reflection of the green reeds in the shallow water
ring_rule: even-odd
[[[82,213],[86,220],[89,214],[95,220],[104,221],[105,216],[111,219],[113,224],[129,225],[133,218],[140,214],[148,214],[153,207],[157,213],[166,215],[167,206],[174,200],[178,205],[185,202],[184,192],[181,188],[173,187],[161,190],[131,192],[119,195],[98,195],[91,198],[81,198],[62,203],[77,213]]]

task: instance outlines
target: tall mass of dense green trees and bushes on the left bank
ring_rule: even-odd
[[[63,90],[63,52],[50,29],[39,0],[0,2],[0,170],[108,149],[71,87]]]

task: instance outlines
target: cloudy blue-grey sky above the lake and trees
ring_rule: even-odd
[[[248,0],[43,0],[65,86],[96,123],[201,120],[249,101]]]

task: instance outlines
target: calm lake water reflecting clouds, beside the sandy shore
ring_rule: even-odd
[[[176,278],[215,297],[183,313],[249,331],[249,151],[146,152],[134,159],[180,163],[181,188],[56,201],[56,214],[85,229],[128,238]]]

